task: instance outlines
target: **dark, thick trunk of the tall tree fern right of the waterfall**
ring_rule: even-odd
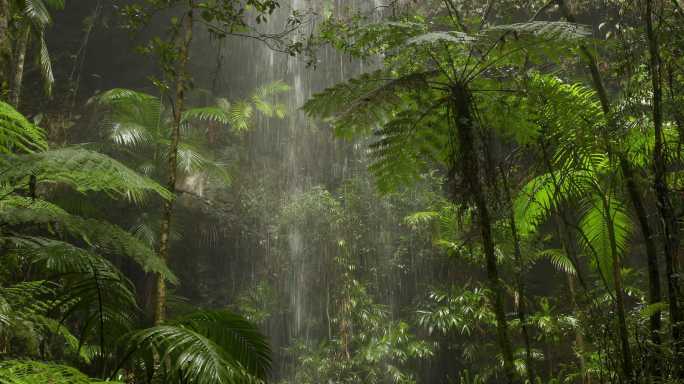
[[[496,317],[496,334],[501,355],[503,356],[504,373],[508,383],[517,383],[513,350],[508,336],[508,323],[504,309],[504,289],[499,279],[496,262],[496,251],[492,237],[492,222],[487,206],[485,191],[480,179],[480,164],[475,151],[476,122],[472,114],[472,95],[465,87],[454,87],[452,93],[453,119],[458,135],[459,155],[457,161],[462,165],[462,176],[468,185],[470,197],[475,203],[477,222],[482,236],[487,279],[491,290],[491,300]]]

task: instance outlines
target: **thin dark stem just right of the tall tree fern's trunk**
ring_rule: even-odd
[[[534,360],[532,359],[532,344],[530,342],[530,332],[527,326],[527,309],[525,304],[525,265],[522,259],[522,251],[520,248],[520,236],[518,234],[518,226],[515,221],[515,211],[513,209],[513,199],[511,198],[511,189],[508,184],[506,173],[501,169],[501,178],[504,183],[504,193],[506,203],[508,204],[508,223],[511,227],[511,237],[513,239],[513,256],[516,263],[516,285],[518,291],[518,320],[522,331],[523,341],[525,343],[525,368],[527,379],[530,383],[534,383]]]

